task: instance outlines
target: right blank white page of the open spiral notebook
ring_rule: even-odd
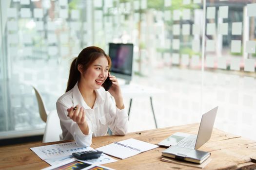
[[[137,140],[137,139],[134,139],[134,138],[122,140],[122,141],[119,141],[118,143],[128,145],[128,146],[133,147],[133,148],[137,148],[137,149],[141,150],[141,152],[149,151],[149,150],[152,150],[152,149],[155,149],[155,148],[159,147],[158,145],[154,145],[154,144],[144,142],[144,141],[141,141],[141,140]]]

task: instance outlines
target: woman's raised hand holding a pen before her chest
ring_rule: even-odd
[[[79,125],[86,123],[85,111],[79,104],[76,107],[72,106],[71,108],[67,109],[67,111],[68,117],[77,122]]]

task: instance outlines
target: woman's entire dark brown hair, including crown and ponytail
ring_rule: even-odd
[[[79,53],[78,57],[76,57],[71,63],[66,92],[71,90],[80,80],[78,65],[81,64],[83,66],[83,71],[85,71],[95,60],[101,56],[105,56],[107,58],[108,66],[111,68],[110,57],[99,47],[86,47]]]

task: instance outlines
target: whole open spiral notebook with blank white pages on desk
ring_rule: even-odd
[[[102,151],[103,153],[106,153],[110,156],[125,159],[138,153],[149,151],[155,148],[158,148],[158,145],[130,138],[99,147],[97,150]]]

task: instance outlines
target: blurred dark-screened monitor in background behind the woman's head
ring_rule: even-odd
[[[129,84],[133,72],[133,44],[109,43],[109,56],[112,61],[111,74]]]

